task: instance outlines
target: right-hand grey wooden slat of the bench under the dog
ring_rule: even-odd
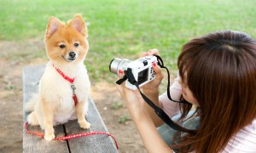
[[[104,122],[102,122],[102,118],[99,117],[100,114],[96,110],[96,106],[91,98],[89,98],[89,107],[88,107],[88,115],[86,116],[86,120],[90,122],[90,129],[84,130],[79,127],[79,123],[77,120],[72,122],[67,122],[65,124],[67,135],[74,133],[89,133],[89,132],[107,132],[108,130],[105,127]],[[87,137],[81,137],[79,139],[69,139],[68,144],[70,150],[73,152],[90,152],[90,153],[98,153],[98,152],[118,152],[116,150],[115,144],[113,144],[113,140],[108,135],[90,135]]]

